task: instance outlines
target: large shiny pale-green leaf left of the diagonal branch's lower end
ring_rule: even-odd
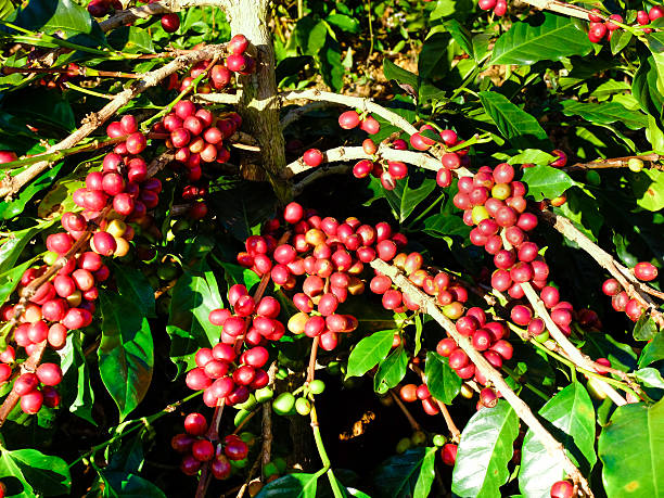
[[[452,493],[460,497],[500,498],[518,435],[519,417],[502,399],[494,408],[473,414],[461,433]]]

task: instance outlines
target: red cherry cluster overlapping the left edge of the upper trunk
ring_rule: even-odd
[[[214,90],[226,90],[230,85],[233,73],[242,76],[251,75],[256,71],[256,60],[246,53],[248,40],[244,35],[233,36],[227,44],[230,54],[226,58],[225,63],[217,63],[209,67],[212,61],[201,61],[191,68],[189,75],[182,78],[179,82],[179,91],[187,90],[195,78],[201,76],[207,68],[207,77],[204,77],[196,87],[197,93],[209,93]],[[170,87],[178,88],[177,75],[171,76]]]

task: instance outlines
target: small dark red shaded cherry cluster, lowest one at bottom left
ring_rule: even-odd
[[[187,475],[195,475],[203,464],[209,462],[209,470],[215,478],[226,480],[230,476],[231,461],[244,460],[248,446],[234,434],[213,443],[207,437],[207,420],[201,413],[189,413],[184,418],[184,432],[176,434],[170,446],[182,455],[180,470]]]

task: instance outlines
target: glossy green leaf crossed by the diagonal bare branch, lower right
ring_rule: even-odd
[[[595,455],[595,409],[586,388],[574,382],[559,392],[540,410],[551,435],[564,447],[570,459],[588,474]],[[527,497],[549,497],[551,484],[564,477],[560,458],[551,457],[533,431],[523,439],[519,488]]]

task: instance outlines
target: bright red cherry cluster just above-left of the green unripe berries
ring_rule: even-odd
[[[285,332],[277,320],[281,307],[273,297],[255,303],[244,285],[235,284],[229,289],[228,299],[233,314],[222,308],[209,314],[210,323],[222,328],[220,342],[196,352],[196,368],[186,379],[189,388],[203,391],[203,403],[208,407],[243,404],[252,391],[265,387],[269,378],[263,367],[269,354],[263,345],[279,341]],[[242,341],[250,347],[240,354]]]

